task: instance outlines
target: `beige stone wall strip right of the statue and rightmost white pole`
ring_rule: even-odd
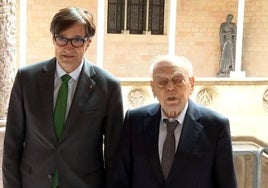
[[[249,76],[267,77],[268,1],[246,0],[243,69]]]

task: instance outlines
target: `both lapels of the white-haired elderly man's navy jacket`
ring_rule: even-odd
[[[163,184],[164,177],[159,160],[158,153],[158,135],[159,135],[159,122],[161,117],[161,107],[159,104],[152,105],[148,110],[148,117],[143,121],[143,137],[145,141],[145,151],[148,153],[149,163],[152,166],[156,179]],[[178,178],[178,174],[173,172],[180,172],[180,152],[191,153],[199,136],[203,130],[203,126],[198,123],[201,118],[200,112],[196,105],[189,100],[188,109],[184,119],[183,130],[180,137],[180,142],[175,155],[171,175],[167,179],[167,184],[172,177]],[[181,172],[183,173],[183,172]]]

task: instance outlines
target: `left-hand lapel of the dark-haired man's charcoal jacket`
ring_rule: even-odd
[[[56,69],[56,59],[53,58],[47,61],[42,66],[40,73],[37,74],[38,88],[37,95],[40,102],[40,119],[42,125],[40,129],[44,135],[47,135],[49,140],[52,140],[53,144],[57,143],[55,131],[54,131],[54,119],[53,119],[53,94],[54,94],[54,77]]]

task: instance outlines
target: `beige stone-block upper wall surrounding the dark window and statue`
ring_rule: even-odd
[[[38,2],[28,0],[27,64],[54,55],[49,24],[55,12],[66,6],[79,6],[91,11],[97,20],[97,2],[95,0],[40,0]],[[105,2],[107,6],[107,0]],[[107,34],[105,31],[104,68],[118,77],[148,76],[147,69],[151,58],[168,52],[169,2],[170,0],[166,0],[165,35],[163,36]],[[220,58],[219,27],[228,13],[234,14],[233,21],[236,22],[237,3],[238,0],[178,1],[176,54],[185,55],[193,62],[197,77],[216,76]],[[19,10],[19,6],[17,9]],[[246,0],[242,63],[243,70],[249,77],[268,75],[266,69],[268,35],[265,34],[268,29],[267,9],[266,0]],[[93,62],[96,62],[98,45],[96,39],[95,36],[87,52],[87,57]]]

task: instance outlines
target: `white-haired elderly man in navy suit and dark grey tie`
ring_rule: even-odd
[[[150,84],[159,104],[126,112],[111,187],[236,188],[229,121],[189,99],[191,63],[157,57]]]

